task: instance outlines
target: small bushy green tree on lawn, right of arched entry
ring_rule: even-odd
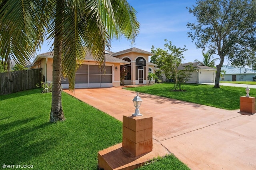
[[[186,74],[188,70],[184,68],[184,71],[177,71],[177,67],[181,64],[182,59],[184,59],[184,52],[187,50],[184,46],[183,48],[176,47],[172,45],[172,42],[164,40],[164,49],[154,48],[152,45],[151,52],[155,55],[152,55],[151,62],[158,65],[160,71],[164,73],[167,79],[172,78],[174,80],[174,90],[180,87],[179,83],[182,84],[186,80],[186,76],[189,77],[189,74]],[[160,74],[160,71],[158,72]],[[183,73],[184,72],[184,73]],[[180,75],[180,77],[179,77]],[[181,78],[183,76],[183,78]],[[190,78],[190,77],[189,77]]]

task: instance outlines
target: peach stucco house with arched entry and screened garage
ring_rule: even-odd
[[[120,67],[126,67],[126,85],[147,84],[148,72],[154,73],[155,64],[148,62],[148,56],[154,55],[138,48],[130,48],[117,53],[106,51],[106,71],[87,53],[82,66],[76,72],[75,88],[119,87]],[[53,52],[36,56],[30,68],[42,68],[44,81],[52,81]],[[62,80],[62,87],[68,88],[68,81]]]

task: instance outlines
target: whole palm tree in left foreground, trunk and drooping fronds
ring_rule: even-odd
[[[74,89],[75,73],[90,51],[104,63],[105,48],[139,32],[136,11],[126,0],[2,0],[0,56],[25,65],[47,40],[54,40],[50,122],[63,121],[61,77]],[[84,48],[85,47],[85,48]]]

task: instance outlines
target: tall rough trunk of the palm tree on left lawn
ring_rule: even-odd
[[[62,59],[62,32],[63,32],[63,0],[56,1],[56,21],[54,35],[54,56],[52,64],[52,109],[50,113],[50,122],[64,121],[61,97],[61,59]]]

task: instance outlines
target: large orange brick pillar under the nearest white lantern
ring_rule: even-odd
[[[123,116],[122,148],[134,157],[151,152],[153,149],[152,122],[152,117]]]

